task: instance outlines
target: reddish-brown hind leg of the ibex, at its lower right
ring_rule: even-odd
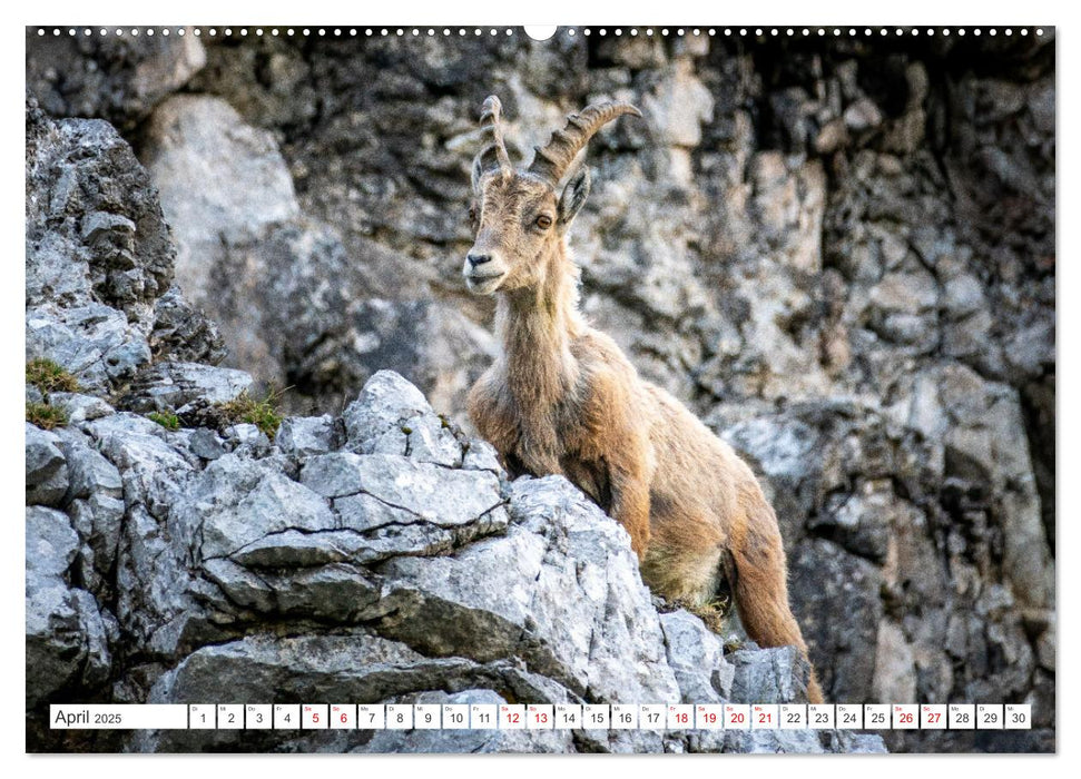
[[[736,595],[739,619],[747,634],[760,647],[796,647],[807,658],[799,624],[788,605],[785,552],[773,512],[765,526],[748,527],[744,544],[731,550],[729,583]],[[765,519],[765,517],[761,517]],[[726,566],[727,568],[727,566]],[[809,662],[809,658],[808,658]],[[822,703],[822,688],[815,669],[807,681],[807,700]]]

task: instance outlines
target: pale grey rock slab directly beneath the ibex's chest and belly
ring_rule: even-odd
[[[523,653],[531,669],[579,694],[678,699],[626,532],[560,477],[515,482],[510,511],[505,536],[453,558],[385,563],[392,598],[410,618],[391,618],[381,631],[436,655],[490,661]],[[527,572],[524,580],[512,571]],[[627,619],[609,620],[612,611]],[[417,629],[425,624],[441,629]]]

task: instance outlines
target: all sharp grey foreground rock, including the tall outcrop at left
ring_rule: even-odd
[[[28,357],[80,384],[27,389],[62,414],[26,426],[28,749],[884,749],[843,731],[50,732],[48,703],[71,701],[792,701],[807,667],[658,613],[618,524],[562,479],[508,482],[395,373],[273,441],[214,424],[252,378],[184,359],[194,336],[155,341],[171,297],[202,356],[219,348],[168,286],[146,172],[104,121],[27,117],[28,329],[56,334]],[[185,426],[144,415],[166,411]]]

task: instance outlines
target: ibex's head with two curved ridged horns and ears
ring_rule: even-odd
[[[473,160],[470,218],[476,236],[462,275],[478,295],[543,280],[548,263],[559,256],[554,249],[589,195],[589,168],[582,165],[571,171],[557,195],[560,180],[601,127],[623,114],[641,116],[626,102],[589,106],[567,117],[567,126],[552,132],[547,146],[535,147],[529,169],[515,170],[503,145],[500,111],[499,98],[484,101],[481,128],[487,142]]]

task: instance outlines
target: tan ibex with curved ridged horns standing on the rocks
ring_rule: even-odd
[[[527,170],[511,165],[500,112],[498,98],[484,101],[462,274],[471,292],[498,297],[502,349],[470,391],[470,420],[512,474],[561,474],[619,522],[655,592],[701,607],[727,576],[751,639],[806,657],[777,517],[755,475],[579,312],[567,231],[589,168],[559,184],[602,126],[641,112],[603,102],[571,114]],[[813,670],[807,697],[822,701]]]

